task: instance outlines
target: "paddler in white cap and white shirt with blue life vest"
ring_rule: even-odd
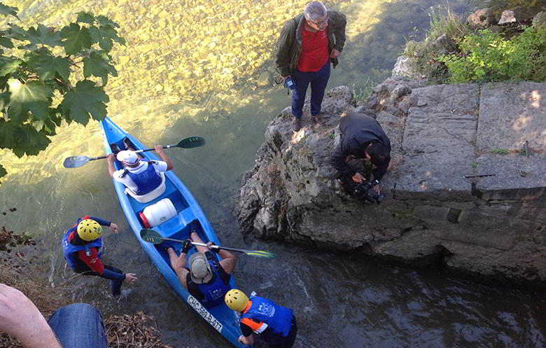
[[[127,141],[125,146],[134,150]],[[153,147],[162,161],[144,160],[132,150],[119,151],[117,155],[109,154],[108,172],[110,176],[132,190],[135,195],[146,195],[161,185],[161,172],[167,172],[174,168],[172,160],[167,157],[163,146],[155,145]],[[114,160],[118,159],[125,168],[116,170]]]

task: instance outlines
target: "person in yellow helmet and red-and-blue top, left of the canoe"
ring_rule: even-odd
[[[123,281],[133,284],[137,277],[134,273],[124,274],[119,268],[102,263],[104,245],[101,226],[108,226],[114,233],[119,231],[118,225],[102,218],[88,215],[78,218],[76,224],[62,238],[64,258],[76,273],[110,279],[112,295],[117,296],[121,293]]]

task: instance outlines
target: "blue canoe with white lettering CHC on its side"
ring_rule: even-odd
[[[127,132],[116,125],[116,123],[113,123],[109,118],[105,118],[101,121],[101,131],[106,153],[112,153],[110,146],[112,143],[116,143],[120,148],[124,148],[123,138],[125,137],[132,141],[137,150],[146,148],[138,139],[132,137],[131,134],[127,134]],[[144,152],[141,153],[141,155],[149,160],[160,160],[154,155],[153,151]],[[116,160],[115,163],[116,169],[121,169],[120,162]],[[158,270],[160,270],[163,277],[165,277],[169,285],[172,286],[180,298],[188,303],[190,307],[195,309],[197,314],[200,314],[204,320],[206,320],[214,329],[218,330],[218,332],[230,341],[231,344],[235,345],[235,347],[247,347],[238,340],[239,335],[241,335],[241,329],[235,312],[228,308],[225,303],[221,303],[221,305],[215,307],[205,308],[180,284],[178,277],[176,277],[176,273],[169,263],[169,256],[163,248],[149,242],[144,242],[140,237],[140,231],[144,228],[144,225],[139,218],[139,213],[149,205],[167,197],[174,204],[176,216],[155,226],[153,230],[159,232],[163,237],[188,239],[190,228],[197,228],[201,239],[203,239],[205,243],[211,241],[220,245],[216,233],[212,229],[211,224],[202,211],[199,203],[197,203],[197,200],[195,200],[188,188],[186,188],[182,181],[174,174],[173,170],[165,173],[165,193],[162,193],[159,197],[145,204],[137,202],[133,197],[127,195],[123,183],[113,181],[121,207],[125,212],[125,216],[127,216],[127,221],[129,221],[134,235],[139,239],[142,248],[146,251],[152,262],[158,267]],[[193,252],[195,252],[195,248],[190,250],[190,254]],[[236,287],[234,277],[231,278],[231,286],[232,288]],[[187,318],[187,320],[193,319]]]

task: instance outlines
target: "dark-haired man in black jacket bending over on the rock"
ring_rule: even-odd
[[[374,169],[370,180],[381,180],[391,162],[391,141],[379,125],[379,122],[363,113],[347,113],[339,121],[341,140],[330,158],[330,164],[342,174],[342,177],[357,183],[365,181],[363,174],[356,172],[347,161],[352,158],[366,158]],[[381,193],[381,183],[373,187]]]

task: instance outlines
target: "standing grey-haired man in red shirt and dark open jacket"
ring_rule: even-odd
[[[345,44],[346,17],[328,11],[320,1],[311,1],[304,13],[283,25],[277,43],[276,67],[283,80],[291,78],[292,131],[302,127],[303,104],[307,86],[311,83],[311,118],[323,125],[321,104],[330,78],[330,62],[337,66]]]

